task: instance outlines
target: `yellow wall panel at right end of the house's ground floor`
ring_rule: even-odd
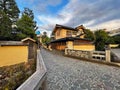
[[[95,45],[74,45],[74,50],[95,50]]]

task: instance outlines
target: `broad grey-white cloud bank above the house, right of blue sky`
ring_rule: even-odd
[[[39,15],[40,28],[52,31],[55,24],[71,27],[83,24],[90,29],[114,29],[120,27],[119,0],[69,0],[56,16]],[[117,9],[116,9],[117,8]]]

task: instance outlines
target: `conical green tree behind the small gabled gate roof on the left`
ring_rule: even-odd
[[[27,13],[31,13],[30,9],[27,9]],[[25,13],[26,9],[24,10],[24,12],[22,13],[22,17],[17,21],[17,27],[18,27],[18,31],[20,32],[17,36],[19,37],[19,39],[23,39],[25,37],[31,37],[33,39],[36,39],[36,35],[35,35],[35,30],[36,30],[36,23],[33,20],[33,13]],[[32,16],[32,17],[31,17]]]

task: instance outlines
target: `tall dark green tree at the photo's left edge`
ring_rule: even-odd
[[[12,24],[16,23],[19,12],[15,0],[0,0],[0,40],[15,39]]]

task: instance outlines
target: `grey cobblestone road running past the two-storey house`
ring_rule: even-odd
[[[120,90],[120,68],[41,50],[46,64],[47,90]]]

